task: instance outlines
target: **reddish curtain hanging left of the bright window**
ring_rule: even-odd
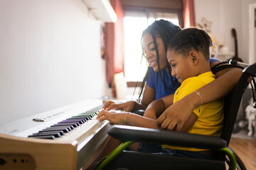
[[[107,82],[112,87],[112,97],[116,97],[114,74],[124,72],[124,22],[120,0],[110,0],[117,14],[116,23],[105,23]]]

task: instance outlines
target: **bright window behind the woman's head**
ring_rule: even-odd
[[[126,81],[142,81],[147,68],[142,57],[142,31],[155,20],[178,24],[178,14],[159,11],[124,11],[124,73]]]

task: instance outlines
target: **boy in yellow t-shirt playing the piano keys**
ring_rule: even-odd
[[[203,105],[203,98],[197,91],[215,79],[214,74],[210,72],[208,61],[211,44],[208,34],[197,28],[187,28],[174,35],[169,44],[167,59],[171,65],[172,76],[178,79],[181,86],[176,90],[174,96],[166,96],[152,102],[146,112],[157,115],[184,96],[195,93],[196,97],[201,100],[201,104],[193,110],[183,128],[178,131],[220,136],[223,128],[223,100],[219,99]],[[159,128],[155,119],[145,118],[129,112],[116,113],[104,110],[97,115],[97,119],[110,120],[111,124]],[[161,147],[144,145],[142,146],[142,152],[145,152],[145,150],[164,152],[164,154],[180,157],[208,157],[207,154],[199,152],[202,151],[201,149],[171,147],[169,145],[162,145]]]

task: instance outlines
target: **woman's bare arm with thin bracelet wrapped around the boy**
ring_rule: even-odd
[[[218,62],[213,62],[210,66],[213,67],[215,64],[218,64]],[[197,90],[201,94],[203,104],[227,95],[234,88],[235,84],[238,83],[241,73],[241,69],[231,68],[224,69],[215,74],[216,79],[214,81]],[[164,111],[157,120],[157,123],[159,123],[162,129],[173,130],[176,128],[176,130],[181,131],[193,109],[200,104],[201,98],[196,93],[188,94]]]

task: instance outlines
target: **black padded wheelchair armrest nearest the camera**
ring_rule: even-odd
[[[227,147],[227,142],[221,137],[125,125],[114,125],[114,127],[108,130],[108,134],[121,142],[148,142],[200,149],[220,149]]]

